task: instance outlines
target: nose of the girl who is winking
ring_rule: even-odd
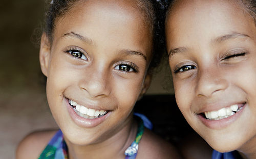
[[[228,87],[225,74],[218,68],[200,70],[197,74],[197,96],[211,97]]]

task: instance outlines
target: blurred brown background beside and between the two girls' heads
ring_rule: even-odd
[[[57,128],[33,36],[41,28],[44,11],[44,0],[0,2],[0,158],[15,158],[17,144],[29,132]],[[168,67],[164,68],[157,71],[147,95],[173,94]]]

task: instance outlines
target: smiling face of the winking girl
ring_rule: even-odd
[[[234,1],[179,1],[167,17],[166,38],[187,122],[216,150],[252,151],[246,148],[256,142],[253,18]]]

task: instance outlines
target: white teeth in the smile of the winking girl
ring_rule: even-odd
[[[246,103],[234,104],[229,107],[224,107],[216,111],[202,112],[200,113],[200,115],[208,120],[221,120],[221,119],[225,119],[230,116],[233,116],[235,113],[240,111],[245,104]]]

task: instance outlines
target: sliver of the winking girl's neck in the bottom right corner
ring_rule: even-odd
[[[256,137],[245,143],[238,152],[244,159],[256,158]]]

